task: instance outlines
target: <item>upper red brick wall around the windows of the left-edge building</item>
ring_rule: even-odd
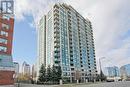
[[[2,27],[2,24],[8,25],[9,29],[6,29],[6,27]],[[0,15],[0,32],[4,31],[8,33],[8,36],[0,34],[0,38],[6,39],[8,41],[7,44],[0,43],[0,46],[7,47],[7,51],[6,52],[0,51],[0,54],[12,55],[13,29],[14,29],[14,18],[4,19],[3,16]]]

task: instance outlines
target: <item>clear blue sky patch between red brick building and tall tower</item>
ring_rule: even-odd
[[[33,64],[37,54],[37,33],[35,27],[29,23],[33,21],[32,16],[25,16],[26,20],[15,20],[13,39],[13,60],[20,64],[26,61]]]

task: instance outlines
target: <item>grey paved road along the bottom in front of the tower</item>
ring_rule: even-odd
[[[0,86],[0,87],[17,87],[17,86]],[[31,85],[21,84],[20,87],[130,87],[130,82],[108,82],[95,84],[67,84],[67,85]]]

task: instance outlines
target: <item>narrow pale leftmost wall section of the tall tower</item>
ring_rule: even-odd
[[[42,64],[46,65],[46,16],[42,17],[38,26],[38,58],[36,62],[37,78]]]

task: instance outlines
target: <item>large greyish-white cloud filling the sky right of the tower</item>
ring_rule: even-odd
[[[105,0],[95,4],[89,10],[92,14],[90,19],[94,28],[97,57],[105,56],[106,60],[111,59],[113,65],[117,66],[130,63],[129,42],[124,42],[124,39],[121,38],[130,29],[130,24],[128,24],[130,8],[127,3],[130,2]],[[130,38],[125,40],[129,41]]]

